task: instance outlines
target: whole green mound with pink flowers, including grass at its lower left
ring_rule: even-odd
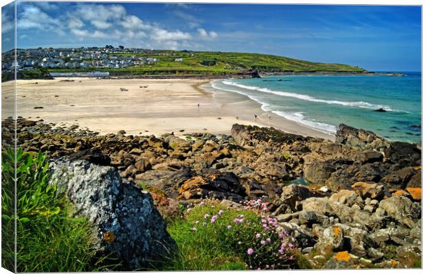
[[[176,221],[168,232],[179,256],[166,270],[287,269],[295,250],[276,219],[259,210],[261,201],[227,208],[202,201]]]

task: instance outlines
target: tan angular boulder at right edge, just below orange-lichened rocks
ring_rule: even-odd
[[[382,208],[388,216],[410,228],[414,227],[421,214],[421,206],[418,203],[413,203],[407,197],[402,196],[382,200],[379,208]]]

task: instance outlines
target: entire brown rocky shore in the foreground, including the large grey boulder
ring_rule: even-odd
[[[129,242],[161,258],[174,246],[161,216],[177,216],[179,205],[205,197],[262,199],[316,267],[421,266],[420,145],[346,125],[335,142],[245,125],[234,125],[232,136],[186,138],[100,136],[25,119],[17,125],[18,145],[48,153],[53,180],[66,181],[63,191],[98,225],[100,249],[111,249],[102,240],[114,242],[130,269],[151,258],[129,253]],[[12,120],[2,123],[3,146],[12,126]],[[146,230],[135,234],[135,227]],[[158,240],[168,247],[155,246]]]

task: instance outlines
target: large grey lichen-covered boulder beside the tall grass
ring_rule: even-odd
[[[148,192],[123,183],[114,167],[58,160],[52,163],[50,183],[92,224],[96,255],[120,259],[121,270],[146,269],[175,250]]]

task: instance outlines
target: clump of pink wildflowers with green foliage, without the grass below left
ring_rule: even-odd
[[[197,213],[197,214],[195,214]],[[283,269],[293,263],[295,247],[278,220],[267,214],[260,199],[225,208],[215,200],[203,200],[188,216],[194,237],[205,237],[203,245],[221,245],[229,256],[243,259],[248,269]],[[216,238],[217,237],[217,238]]]

